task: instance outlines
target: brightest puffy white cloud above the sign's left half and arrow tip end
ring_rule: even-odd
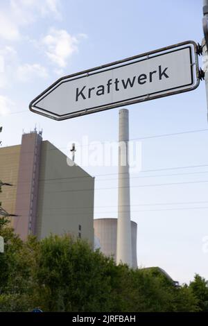
[[[78,38],[67,31],[51,28],[51,31],[42,39],[46,56],[60,68],[67,66],[67,62],[74,52],[78,51]]]

